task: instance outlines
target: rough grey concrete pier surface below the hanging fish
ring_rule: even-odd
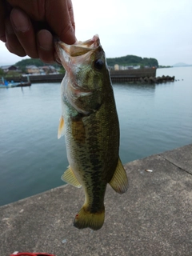
[[[82,189],[61,186],[0,207],[0,255],[192,255],[192,144],[125,165],[126,194],[107,187],[101,230],[74,228]],[[150,169],[153,172],[147,172]]]

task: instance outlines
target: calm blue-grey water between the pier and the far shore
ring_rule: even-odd
[[[192,143],[192,67],[158,69],[162,74],[177,82],[113,85],[124,163]],[[0,205],[63,185],[60,115],[58,83],[0,90]]]

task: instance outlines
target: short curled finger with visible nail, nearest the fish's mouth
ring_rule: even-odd
[[[54,62],[53,36],[48,30],[40,30],[37,34],[38,56],[42,62]]]

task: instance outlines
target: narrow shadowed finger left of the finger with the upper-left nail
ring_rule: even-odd
[[[6,48],[12,54],[17,54],[20,57],[26,56],[25,50],[22,48],[18,38],[14,34],[14,29],[11,25],[10,19],[7,18],[5,22],[6,26]]]

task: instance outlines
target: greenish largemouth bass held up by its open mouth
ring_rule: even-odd
[[[74,226],[99,230],[105,219],[107,184],[119,194],[128,188],[119,158],[119,122],[110,71],[97,34],[74,45],[56,40],[54,46],[66,70],[58,138],[65,135],[69,167],[62,180],[84,190],[85,202]]]

